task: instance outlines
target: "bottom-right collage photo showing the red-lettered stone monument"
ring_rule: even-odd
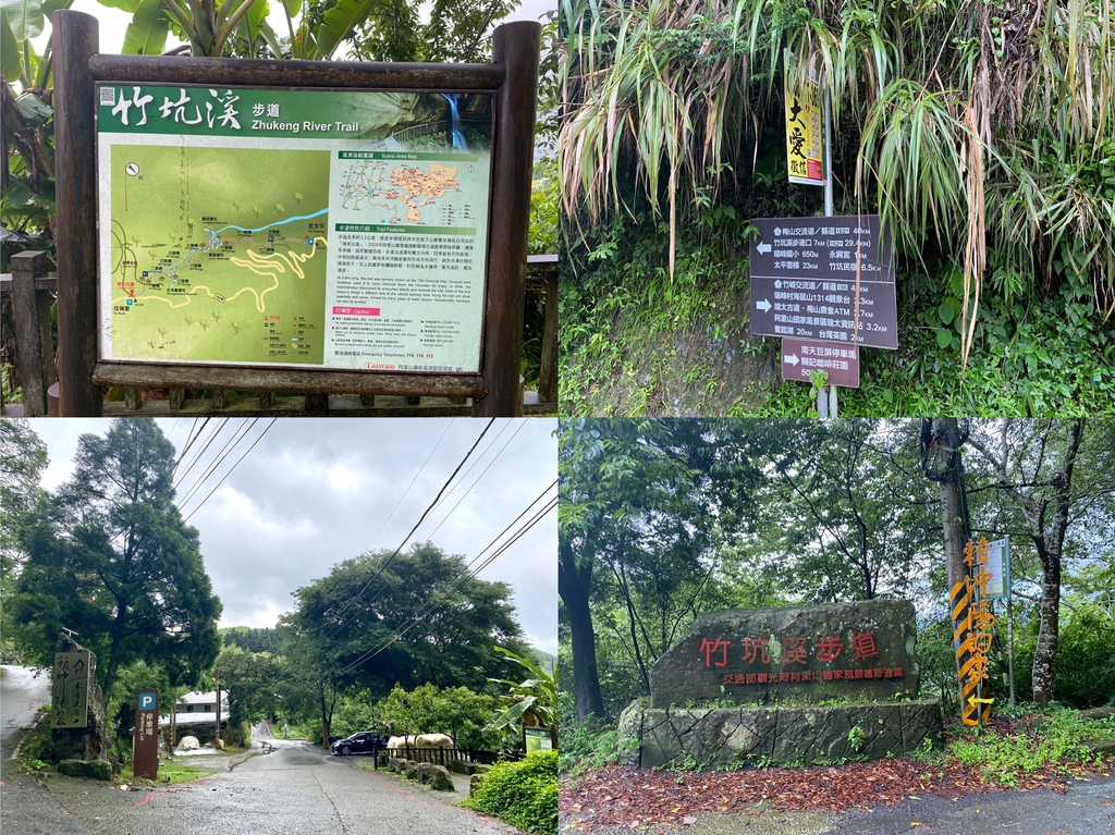
[[[568,418],[559,443],[562,832],[1109,819],[1115,423]]]

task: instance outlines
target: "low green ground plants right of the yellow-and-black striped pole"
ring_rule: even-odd
[[[1047,766],[1097,763],[1082,742],[1111,736],[1109,722],[1082,719],[1077,711],[1058,707],[1029,717],[1015,732],[961,731],[948,741],[947,751],[960,764],[979,768],[988,783],[1009,787]]]

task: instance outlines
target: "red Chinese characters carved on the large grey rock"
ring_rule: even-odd
[[[705,662],[706,669],[724,668],[728,666],[728,650],[733,642],[723,635],[716,639],[702,638],[698,648],[698,653]],[[808,664],[811,657],[822,664],[833,664],[837,659],[845,659],[845,662],[854,663],[876,658],[879,647],[875,643],[875,633],[872,630],[852,632],[849,642],[840,635],[827,634],[813,642],[811,652],[809,639],[803,637],[787,637],[783,639],[754,638],[747,637],[738,642],[741,654],[738,659],[749,667],[770,666],[772,663],[787,667],[789,664]],[[845,652],[845,650],[847,650]],[[734,658],[736,658],[734,656]],[[786,671],[755,671],[755,672],[725,672],[723,674],[724,684],[782,684],[803,683],[811,681],[861,681],[869,679],[894,679],[902,678],[901,667],[874,667],[826,670],[786,670]]]

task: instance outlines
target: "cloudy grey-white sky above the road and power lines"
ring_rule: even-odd
[[[394,551],[488,421],[156,423],[178,450],[178,506],[201,533],[205,566],[224,603],[221,625],[273,627],[293,609],[297,588],[365,551]],[[410,542],[430,541],[466,561],[479,557],[475,565],[484,562],[556,496],[555,425],[544,418],[497,419]],[[103,435],[107,426],[107,420],[33,420],[50,454],[43,486],[54,489],[69,478],[79,435]],[[493,540],[496,545],[488,548]],[[553,511],[479,574],[512,586],[527,640],[552,653],[558,651],[556,555]]]

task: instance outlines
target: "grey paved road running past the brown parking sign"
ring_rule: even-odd
[[[11,761],[19,731],[49,701],[45,677],[7,668],[0,691],[0,831],[3,835],[515,835],[450,806],[429,789],[360,768],[303,742],[269,739],[271,754],[197,757],[220,774],[124,792],[51,774],[42,783]],[[230,765],[232,767],[230,768]]]

